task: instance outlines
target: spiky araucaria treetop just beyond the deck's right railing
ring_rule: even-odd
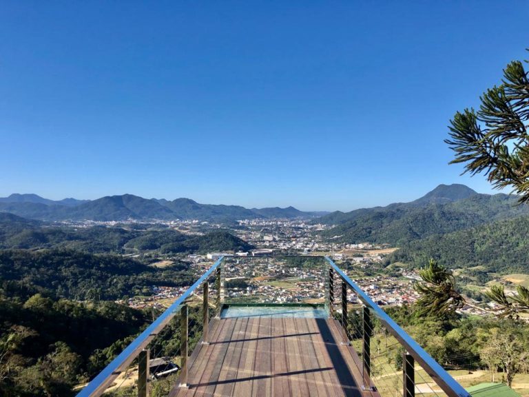
[[[450,269],[431,259],[427,267],[419,270],[419,276],[423,282],[413,285],[421,295],[417,300],[419,314],[446,317],[463,307],[464,298],[457,292]]]

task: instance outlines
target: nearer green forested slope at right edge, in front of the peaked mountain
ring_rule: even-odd
[[[475,268],[465,273],[483,283],[489,273],[529,274],[528,236],[529,216],[521,216],[404,243],[390,261],[423,267],[434,258],[453,269]]]

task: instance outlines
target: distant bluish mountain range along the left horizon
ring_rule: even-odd
[[[143,199],[132,194],[105,196],[94,201],[64,199],[52,201],[36,194],[12,194],[0,199],[0,212],[43,221],[126,221],[198,219],[200,221],[233,222],[256,218],[311,218],[320,212],[302,212],[294,207],[253,208],[240,205],[200,204],[190,199]]]

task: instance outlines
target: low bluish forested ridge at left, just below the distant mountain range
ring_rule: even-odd
[[[247,251],[253,248],[228,232],[189,236],[172,229],[128,230],[123,227],[50,226],[13,214],[0,214],[0,249],[61,248],[89,253],[158,250],[180,252]]]

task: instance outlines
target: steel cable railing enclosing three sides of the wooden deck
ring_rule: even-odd
[[[331,259],[315,256],[220,258],[78,396],[167,396],[189,382],[191,353],[207,343],[223,307],[307,303],[335,319],[364,389],[382,397],[469,396]]]

